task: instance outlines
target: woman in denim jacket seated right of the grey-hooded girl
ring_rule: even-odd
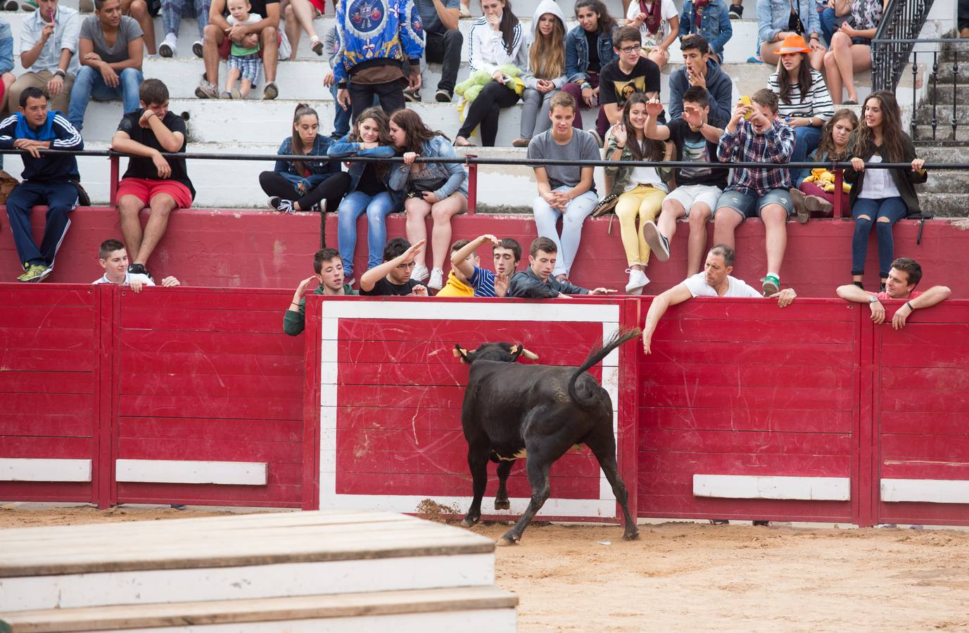
[[[565,75],[568,83],[562,90],[572,95],[581,107],[599,105],[599,71],[618,56],[612,49],[612,31],[615,19],[602,0],[578,0],[576,3],[578,25],[565,35]],[[590,45],[591,42],[595,45]],[[576,110],[572,127],[582,129],[582,115]],[[606,112],[600,108],[595,132],[599,144],[609,129]]]

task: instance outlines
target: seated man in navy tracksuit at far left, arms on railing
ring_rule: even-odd
[[[39,88],[20,93],[16,114],[0,123],[0,149],[22,149],[23,182],[7,198],[7,216],[14,230],[16,253],[23,264],[19,282],[41,282],[54,268],[54,256],[67,229],[68,212],[78,206],[78,161],[74,156],[41,156],[42,149],[84,149],[84,141],[67,117],[47,111]],[[47,204],[47,225],[40,247],[31,236],[30,211]]]

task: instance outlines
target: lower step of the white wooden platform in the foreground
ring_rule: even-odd
[[[426,633],[459,630],[467,621],[514,631],[514,593],[495,587],[338,593],[254,600],[25,611],[0,616],[8,633],[125,629]]]

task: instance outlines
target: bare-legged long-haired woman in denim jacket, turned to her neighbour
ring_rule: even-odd
[[[411,279],[422,282],[430,276],[427,287],[444,286],[444,258],[451,252],[451,218],[468,208],[467,173],[454,153],[447,136],[430,130],[414,110],[397,110],[391,114],[391,138],[404,155],[402,165],[391,167],[391,190],[406,194],[407,241],[417,244],[427,239],[427,215],[434,221],[430,245],[433,269],[428,273],[427,249],[414,258]],[[453,158],[453,163],[415,163],[414,159]]]

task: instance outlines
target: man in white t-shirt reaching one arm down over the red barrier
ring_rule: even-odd
[[[763,295],[744,282],[731,277],[734,270],[734,249],[726,244],[717,244],[706,254],[703,272],[688,277],[685,281],[672,286],[666,292],[657,295],[646,313],[646,322],[642,326],[642,351],[649,353],[653,331],[660,318],[666,314],[670,306],[683,303],[693,297],[750,297],[763,298]],[[771,294],[768,298],[777,299],[781,308],[788,306],[797,297],[794,288],[785,288]]]

